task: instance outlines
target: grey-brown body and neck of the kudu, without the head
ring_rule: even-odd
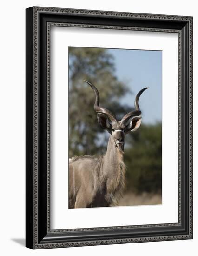
[[[123,153],[110,135],[106,155],[69,161],[69,208],[115,205],[125,186]]]

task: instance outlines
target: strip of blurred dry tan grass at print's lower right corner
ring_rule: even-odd
[[[127,192],[124,194],[122,199],[119,201],[119,206],[127,205],[154,205],[161,204],[162,196],[161,194],[153,194],[143,192],[142,194],[135,194],[132,192]]]

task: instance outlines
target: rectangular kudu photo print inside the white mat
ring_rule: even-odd
[[[162,51],[68,47],[68,208],[162,203]]]

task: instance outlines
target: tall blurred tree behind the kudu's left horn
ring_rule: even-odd
[[[107,49],[69,47],[69,157],[103,154],[109,137],[93,110],[95,95],[83,80],[98,88],[101,105],[118,118],[131,111],[119,103],[130,90],[114,72],[113,57]]]

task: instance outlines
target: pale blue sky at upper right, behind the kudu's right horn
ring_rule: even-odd
[[[149,87],[139,98],[144,123],[162,120],[162,52],[146,50],[109,49],[114,56],[116,76],[127,83],[133,94],[122,102],[134,106],[135,95]]]

